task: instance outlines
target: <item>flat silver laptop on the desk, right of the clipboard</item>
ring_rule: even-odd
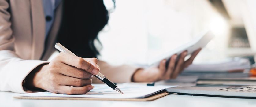
[[[196,85],[190,87],[174,87],[166,89],[168,92],[178,94],[200,94],[230,97],[256,98],[256,85]]]

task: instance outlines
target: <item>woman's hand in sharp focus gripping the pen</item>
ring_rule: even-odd
[[[34,73],[26,77],[25,87],[61,94],[85,94],[94,88],[91,77],[99,70],[96,58],[81,58],[61,52],[50,64],[34,69]]]

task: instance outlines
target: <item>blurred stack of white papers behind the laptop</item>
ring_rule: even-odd
[[[248,77],[250,61],[246,58],[232,58],[220,62],[192,64],[181,75],[199,78]]]

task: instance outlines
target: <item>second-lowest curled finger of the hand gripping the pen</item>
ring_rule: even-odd
[[[92,82],[92,79],[78,79],[78,78],[73,78],[73,77],[64,76],[64,75],[60,76],[59,78],[63,78],[63,79],[55,80],[55,82],[58,83],[59,85],[67,85],[67,86],[74,86],[74,87],[83,87],[86,85],[91,85],[91,82]]]

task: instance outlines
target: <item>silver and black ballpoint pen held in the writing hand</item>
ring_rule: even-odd
[[[76,56],[74,53],[72,53],[70,50],[68,50],[67,48],[65,48],[64,46],[62,46],[60,43],[56,43],[54,46],[57,50],[61,51],[61,52],[66,52],[69,53],[71,55]],[[103,83],[106,83],[109,87],[111,87],[113,90],[116,90],[118,92],[120,92],[121,94],[124,94],[114,83],[112,83],[111,81],[109,81],[109,79],[107,79],[103,74],[101,74],[100,72],[97,75],[94,75],[96,78],[98,78],[100,81],[102,81]]]

